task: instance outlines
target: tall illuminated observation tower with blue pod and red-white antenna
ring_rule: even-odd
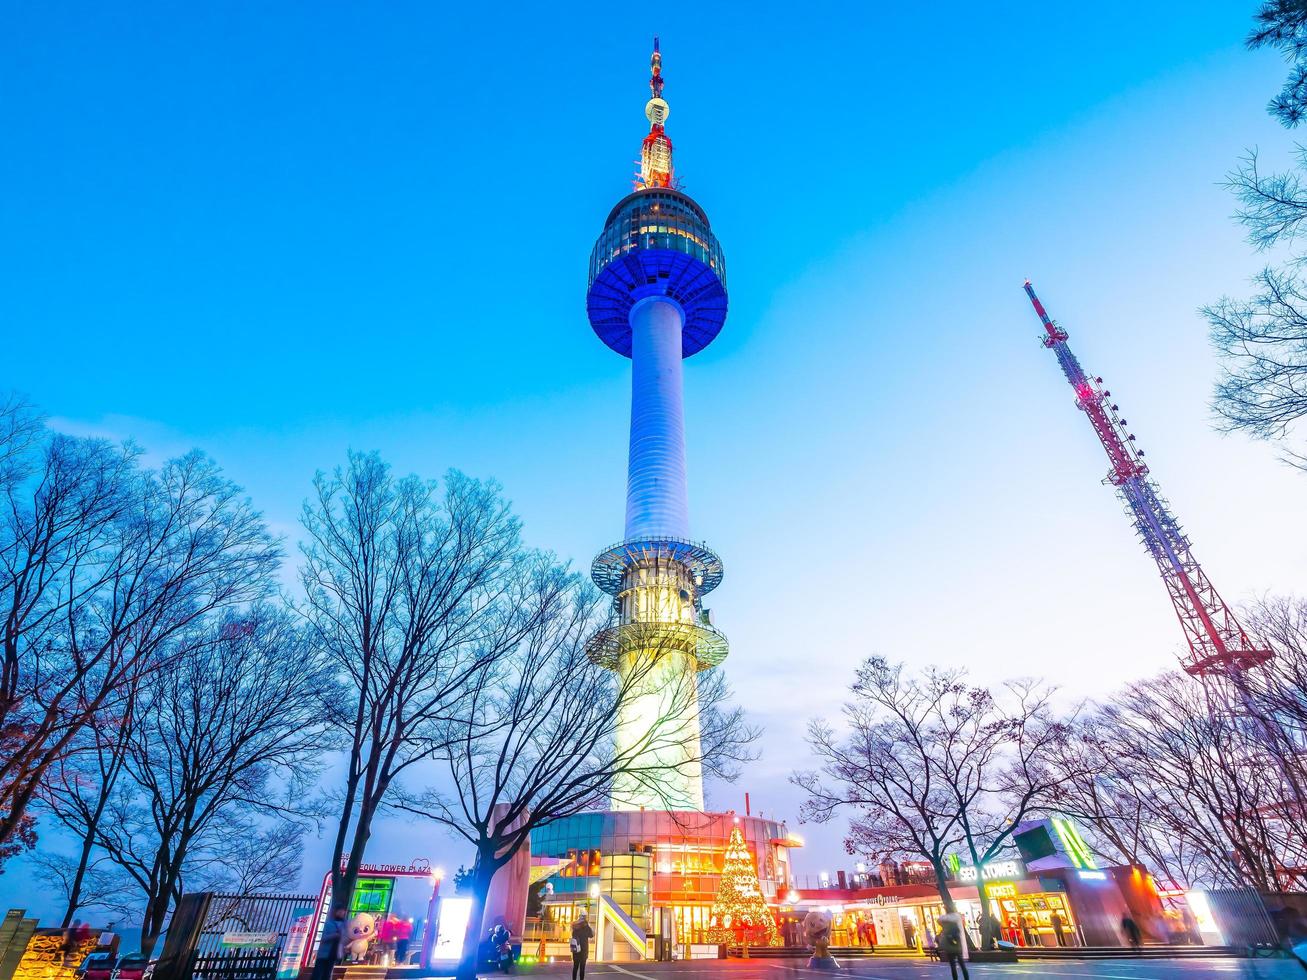
[[[591,570],[614,597],[616,621],[589,656],[623,679],[638,672],[637,696],[617,719],[616,751],[633,762],[614,781],[613,809],[703,810],[698,700],[686,691],[697,672],[725,660],[727,640],[703,608],[721,559],[690,540],[681,361],[721,331],[725,263],[707,214],[674,187],[657,38],[651,69],[637,189],[613,208],[589,257],[591,327],[631,359],[626,536]],[[648,740],[651,723],[674,738]]]

